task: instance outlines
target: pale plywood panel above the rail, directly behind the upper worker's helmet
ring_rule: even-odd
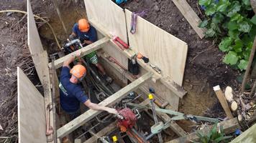
[[[104,26],[109,34],[119,36],[127,42],[127,28],[124,11],[111,0],[84,0],[89,21]]]

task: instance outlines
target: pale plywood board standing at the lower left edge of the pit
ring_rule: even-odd
[[[42,94],[17,67],[19,142],[46,142]]]

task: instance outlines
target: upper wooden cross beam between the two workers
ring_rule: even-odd
[[[92,51],[96,51],[97,49],[102,48],[102,46],[108,42],[109,42],[109,37],[104,37],[103,39],[99,39],[98,41],[95,41],[92,44],[89,44],[88,46],[83,47],[82,49],[78,49],[77,51],[74,51],[73,53],[65,55],[60,59],[56,59],[54,63],[55,68],[58,69],[61,66],[63,66],[63,62],[66,59],[70,58],[70,56],[76,55],[77,52],[81,52],[81,56],[85,56],[86,54],[90,54]],[[51,67],[52,64],[49,63],[48,66]]]

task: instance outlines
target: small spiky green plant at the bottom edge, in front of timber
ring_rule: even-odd
[[[201,143],[219,143],[219,142],[227,142],[228,139],[232,138],[232,136],[225,136],[223,127],[219,127],[219,131],[217,130],[217,123],[214,124],[214,127],[209,131],[208,134],[202,134],[201,132],[196,132],[196,135],[199,137],[198,142]],[[193,141],[196,143],[195,141]]]

